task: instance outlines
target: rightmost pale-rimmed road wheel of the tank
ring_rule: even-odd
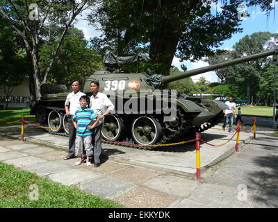
[[[160,141],[162,128],[161,124],[152,117],[139,117],[134,119],[131,133],[136,143],[152,145]]]

